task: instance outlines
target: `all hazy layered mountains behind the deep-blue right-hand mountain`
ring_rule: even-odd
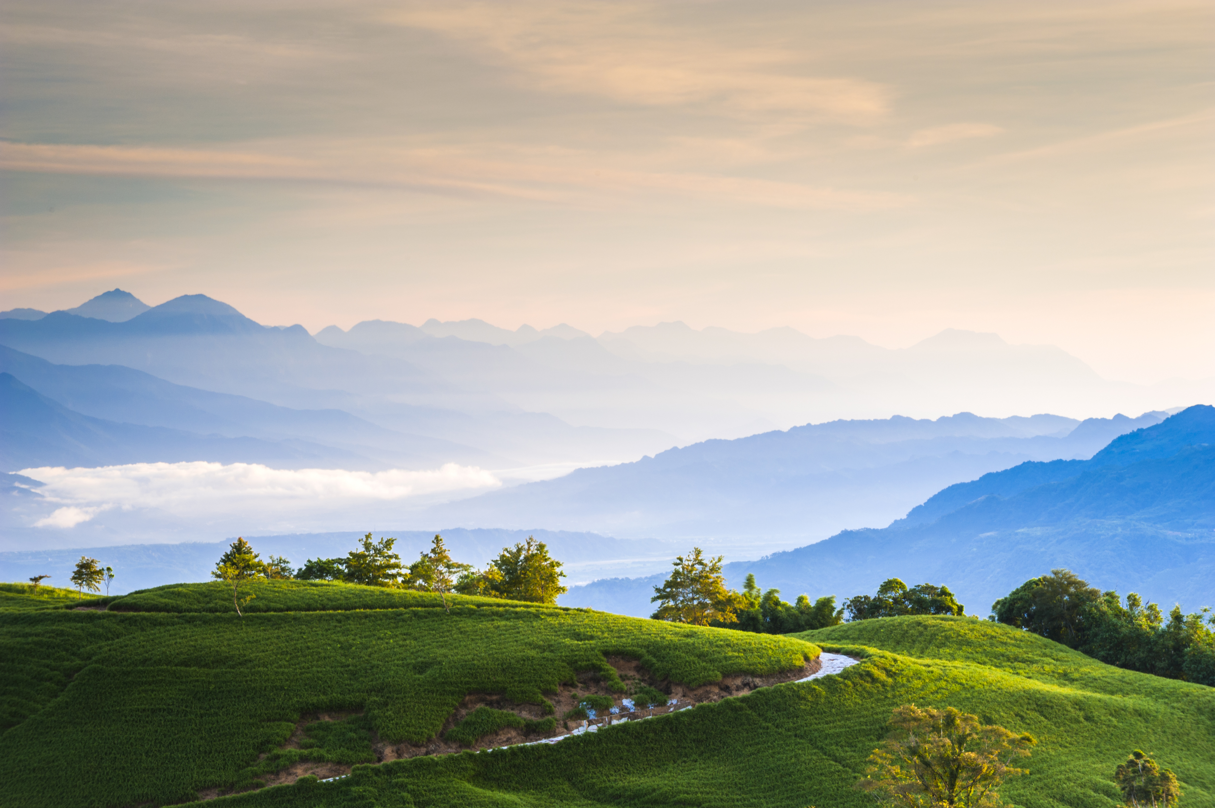
[[[66,311],[0,315],[0,373],[4,470],[209,460],[389,473],[453,463],[499,478],[435,493],[426,502],[448,502],[428,509],[420,499],[377,499],[375,513],[416,527],[694,539],[744,558],[887,524],[939,488],[1027,459],[1086,458],[1165,414],[1080,423],[891,413],[936,416],[944,402],[1008,414],[1041,413],[1036,403],[1051,401],[1076,412],[1175,401],[1162,389],[1102,380],[1058,349],[994,334],[946,330],[888,350],[789,328],[662,323],[592,337],[566,324],[508,330],[430,320],[313,337],[200,294],[147,306],[122,289]],[[880,417],[825,420],[838,412]],[[706,436],[714,439],[694,443]],[[512,487],[580,465],[588,468]],[[17,488],[0,508],[9,547],[63,547],[84,535],[211,539],[234,521],[303,529],[265,521],[266,509],[221,529],[170,505],[145,514],[134,501],[98,499],[85,508]],[[47,520],[56,508],[77,512]],[[346,524],[345,513],[326,524]],[[349,513],[371,520],[364,509]]]

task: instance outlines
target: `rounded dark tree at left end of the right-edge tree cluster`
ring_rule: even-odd
[[[991,616],[996,622],[1080,648],[1086,640],[1089,608],[1098,600],[1101,592],[1070,570],[1051,570],[991,604]]]

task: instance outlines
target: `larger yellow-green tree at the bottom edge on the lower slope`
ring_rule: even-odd
[[[998,808],[1005,804],[996,795],[1000,784],[1025,774],[1011,763],[1038,742],[954,707],[903,705],[891,724],[891,736],[869,756],[857,787],[906,808]]]

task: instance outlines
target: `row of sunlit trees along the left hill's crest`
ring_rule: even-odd
[[[232,604],[237,614],[255,595],[241,598],[241,588],[255,580],[295,578],[299,581],[341,581],[371,587],[392,587],[434,592],[451,610],[451,593],[475,594],[505,600],[555,603],[566,592],[561,586],[565,572],[561,563],[548,554],[548,547],[529,536],[524,543],[502,548],[502,553],[484,570],[452,559],[443,537],[435,535],[429,550],[406,566],[392,550],[395,538],[374,541],[371,533],[344,558],[309,559],[299,570],[279,555],[262,561],[244,538],[237,538],[220,556],[211,577],[232,587]]]

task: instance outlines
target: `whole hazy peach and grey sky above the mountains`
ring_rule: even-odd
[[[1215,373],[1215,5],[5,0],[2,306]]]

